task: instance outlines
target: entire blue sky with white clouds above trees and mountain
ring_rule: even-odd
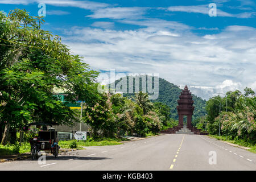
[[[256,2],[0,0],[0,10],[38,15],[92,69],[159,73],[208,99],[215,92],[256,90]],[[209,16],[216,3],[217,16]]]

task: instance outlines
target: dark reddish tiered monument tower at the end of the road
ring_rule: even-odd
[[[186,85],[185,88],[180,93],[180,100],[177,101],[179,104],[177,106],[177,112],[179,115],[179,126],[183,127],[183,116],[187,115],[187,127],[192,127],[192,115],[195,107],[193,106],[194,101],[192,101],[191,92],[189,92],[188,86]]]

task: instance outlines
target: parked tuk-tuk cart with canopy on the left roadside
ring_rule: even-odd
[[[38,137],[30,139],[30,154],[32,160],[39,158],[40,151],[51,151],[51,154],[57,158],[59,154],[59,144],[57,139],[57,131],[47,126],[59,125],[58,123],[30,123],[28,126],[36,125],[37,128],[42,127],[38,132]]]

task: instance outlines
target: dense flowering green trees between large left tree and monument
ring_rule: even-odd
[[[119,137],[135,133],[144,137],[160,131],[162,115],[156,114],[147,93],[136,94],[135,101],[121,94],[100,95],[93,106],[84,106],[83,121],[92,126],[94,136],[100,133],[105,137]]]

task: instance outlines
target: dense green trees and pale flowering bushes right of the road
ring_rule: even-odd
[[[218,134],[220,122],[220,134],[230,136],[232,139],[243,139],[255,144],[256,142],[256,98],[250,88],[227,92],[226,97],[213,97],[207,101],[207,129],[210,134]],[[227,107],[226,107],[227,99]],[[219,112],[221,102],[221,113]],[[226,112],[226,109],[228,112]]]

